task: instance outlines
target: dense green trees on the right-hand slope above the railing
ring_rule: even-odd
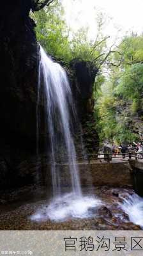
[[[100,140],[130,143],[139,140],[143,132],[143,36],[123,39],[112,56],[119,67],[112,67],[109,77],[103,81],[96,111]]]

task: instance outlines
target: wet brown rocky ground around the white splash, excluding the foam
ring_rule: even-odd
[[[83,193],[87,194],[88,189]],[[8,191],[7,191],[8,192]],[[2,193],[0,198],[1,230],[140,230],[138,225],[134,225],[128,220],[119,207],[122,198],[133,195],[132,189],[124,188],[96,188],[90,193],[102,200],[103,205],[94,211],[92,218],[69,219],[63,222],[30,220],[43,205],[48,205],[50,191],[41,187],[29,186],[18,191]],[[117,196],[119,195],[119,196]]]

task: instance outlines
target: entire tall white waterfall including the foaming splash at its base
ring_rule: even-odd
[[[40,101],[42,84],[45,99],[45,120],[50,134],[48,146],[50,147],[53,196],[50,202],[47,202],[47,205],[44,205],[42,209],[39,209],[31,216],[31,220],[45,221],[50,219],[52,221],[64,221],[68,218],[89,218],[92,216],[91,210],[100,207],[102,202],[93,196],[82,195],[72,134],[71,114],[72,116],[76,115],[72,91],[64,69],[61,65],[52,61],[41,46],[38,75],[37,107]],[[40,134],[39,119],[37,108],[37,136]],[[63,190],[64,184],[63,180],[61,180],[61,173],[56,166],[57,161],[68,164],[68,179],[71,180],[68,193]]]

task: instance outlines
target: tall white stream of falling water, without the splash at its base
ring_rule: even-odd
[[[52,61],[42,47],[40,47],[38,95],[41,84],[43,84],[45,95],[47,129],[50,134],[49,147],[53,194],[54,196],[61,194],[61,180],[56,168],[58,155],[58,161],[63,160],[68,163],[72,192],[80,196],[79,170],[75,164],[76,152],[72,136],[72,118],[69,110],[71,109],[72,114],[74,113],[70,84],[61,65]],[[59,150],[57,147],[60,147]]]

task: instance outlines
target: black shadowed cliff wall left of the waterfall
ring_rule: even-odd
[[[19,184],[17,164],[36,151],[38,44],[30,2],[0,4],[1,188]]]

